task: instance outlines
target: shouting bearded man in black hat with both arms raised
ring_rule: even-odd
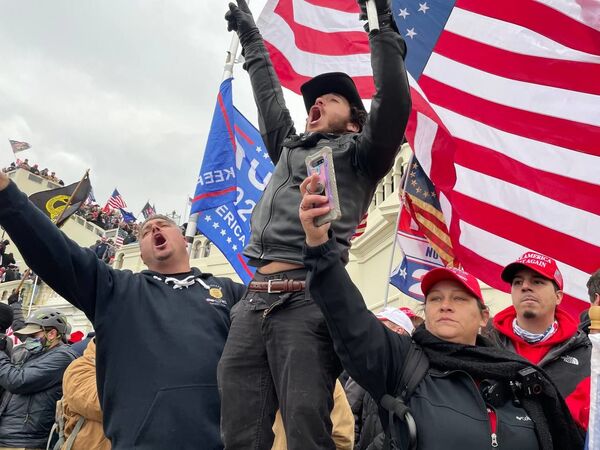
[[[364,0],[358,3],[364,8]],[[369,43],[377,92],[370,113],[350,76],[321,74],[300,87],[308,117],[305,132],[297,133],[248,5],[245,0],[229,4],[228,29],[237,32],[244,49],[260,131],[275,170],[252,213],[244,249],[257,271],[232,311],[219,363],[227,450],[270,449],[278,406],[288,449],[335,449],[330,412],[341,366],[323,314],[305,290],[298,204],[306,157],[330,147],[342,214],[331,227],[347,263],[350,238],[394,164],[411,108],[406,44],[390,1],[376,0],[376,7],[380,31],[369,34]],[[318,189],[317,183],[311,189]]]

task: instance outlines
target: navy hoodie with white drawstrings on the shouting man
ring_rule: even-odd
[[[65,236],[12,182],[0,224],[98,336],[104,429],[115,450],[221,449],[217,363],[244,286],[198,269],[114,270]]]

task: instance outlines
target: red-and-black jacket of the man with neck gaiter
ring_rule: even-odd
[[[514,306],[494,317],[490,338],[537,364],[548,373],[565,398],[573,418],[587,430],[590,414],[590,361],[592,344],[577,327],[577,322],[560,307],[555,317],[558,330],[547,341],[529,344],[515,335],[512,324],[517,312]]]

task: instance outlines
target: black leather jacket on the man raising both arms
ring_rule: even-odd
[[[406,44],[389,26],[369,38],[377,92],[360,133],[297,135],[285,107],[281,85],[261,36],[244,44],[259,127],[275,170],[252,213],[252,234],[244,249],[250,264],[285,261],[302,264],[304,232],[298,220],[305,159],[329,146],[342,217],[333,223],[341,254],[348,261],[350,238],[367,211],[377,183],[392,168],[400,150],[411,100],[404,67]]]

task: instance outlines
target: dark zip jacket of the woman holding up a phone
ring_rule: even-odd
[[[384,394],[396,394],[410,337],[388,330],[367,309],[333,239],[305,247],[304,261],[310,294],[325,315],[344,368],[377,402]],[[466,372],[430,368],[408,406],[417,424],[419,450],[539,448],[533,422],[511,400],[494,408],[494,425],[475,380]],[[381,420],[387,427],[387,416]],[[399,422],[396,426],[406,446],[406,430]]]

